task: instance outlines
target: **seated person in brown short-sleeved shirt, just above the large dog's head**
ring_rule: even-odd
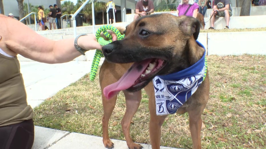
[[[141,16],[150,15],[154,12],[153,1],[151,0],[140,0],[136,4],[134,20]]]

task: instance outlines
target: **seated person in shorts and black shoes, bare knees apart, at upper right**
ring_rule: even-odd
[[[224,29],[229,29],[230,16],[232,15],[233,13],[229,4],[229,0],[214,0],[213,11],[211,12],[211,27],[209,29],[214,29],[215,16],[225,17],[226,26]]]

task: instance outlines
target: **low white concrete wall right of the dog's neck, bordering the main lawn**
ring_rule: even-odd
[[[266,55],[266,31],[200,33],[198,41],[208,55]]]

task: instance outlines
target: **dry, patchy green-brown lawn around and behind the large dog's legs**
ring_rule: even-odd
[[[265,148],[266,56],[207,56],[210,98],[202,119],[203,148]],[[132,119],[135,142],[150,144],[148,97],[142,92]],[[34,109],[35,125],[69,132],[102,135],[102,101],[99,80],[88,74],[48,98]],[[110,138],[124,140],[119,124],[125,111],[120,93],[109,123]],[[169,115],[162,126],[161,145],[191,148],[188,114]]]

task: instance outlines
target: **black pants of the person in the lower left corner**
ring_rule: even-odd
[[[0,127],[1,149],[31,149],[34,141],[33,120]]]

